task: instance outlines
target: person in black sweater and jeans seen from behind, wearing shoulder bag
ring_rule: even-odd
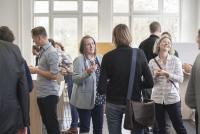
[[[113,43],[116,49],[104,55],[101,64],[101,74],[98,92],[106,94],[106,116],[109,134],[121,134],[122,117],[126,108],[126,95],[130,75],[132,37],[128,27],[117,25],[113,30]],[[141,90],[153,87],[153,78],[147,60],[142,50],[137,50],[132,100],[141,100]],[[143,80],[142,80],[143,77]],[[133,134],[143,134],[138,129]]]

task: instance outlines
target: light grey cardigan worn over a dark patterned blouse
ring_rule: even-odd
[[[97,60],[101,64],[102,57],[97,56]],[[74,60],[73,66],[74,84],[70,103],[80,109],[92,109],[96,99],[96,74],[87,74],[85,70],[90,66],[90,62],[83,55]]]

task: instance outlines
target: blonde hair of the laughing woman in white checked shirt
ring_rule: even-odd
[[[170,37],[168,37],[168,36],[162,36],[160,39],[158,39],[158,40],[155,42],[153,53],[158,54],[158,53],[160,52],[160,43],[161,43],[162,40],[164,40],[164,39],[166,39],[166,38],[169,39],[170,42],[171,42],[171,48],[170,48],[170,50],[169,50],[169,54],[170,54],[170,55],[174,55],[175,50],[174,50],[174,48],[172,47],[172,39],[171,39]]]

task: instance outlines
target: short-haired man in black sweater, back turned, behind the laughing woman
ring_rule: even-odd
[[[150,59],[156,57],[156,54],[153,53],[153,47],[156,40],[159,39],[161,34],[160,23],[157,21],[152,22],[149,25],[149,30],[151,35],[147,39],[142,41],[142,43],[139,46],[139,48],[144,51],[148,62],[150,61]]]

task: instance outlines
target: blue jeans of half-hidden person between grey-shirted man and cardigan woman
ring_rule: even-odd
[[[73,81],[72,81],[72,76],[65,76],[65,83],[67,83],[67,92],[69,96],[69,100],[71,99],[71,94],[72,94],[72,88],[73,88]],[[75,106],[70,104],[70,111],[71,111],[71,117],[72,117],[72,122],[71,122],[71,128],[77,128],[78,127],[78,112]]]

